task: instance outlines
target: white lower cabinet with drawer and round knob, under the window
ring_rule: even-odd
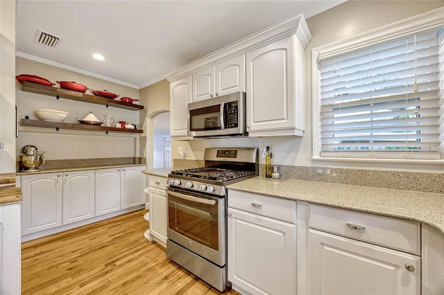
[[[421,294],[420,224],[310,205],[309,226],[307,294]]]

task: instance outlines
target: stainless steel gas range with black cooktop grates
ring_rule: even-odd
[[[257,148],[207,148],[204,160],[203,168],[169,175],[167,256],[223,292],[229,287],[225,186],[258,175]]]

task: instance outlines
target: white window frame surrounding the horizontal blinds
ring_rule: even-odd
[[[321,157],[320,128],[320,81],[318,71],[318,57],[332,57],[341,53],[348,53],[359,48],[372,46],[391,39],[412,35],[423,30],[429,30],[444,26],[444,8],[437,8],[429,12],[388,24],[366,33],[362,33],[347,39],[318,46],[311,50],[311,98],[312,98],[312,140],[314,161],[341,161],[341,162],[371,162],[371,163],[427,163],[443,165],[444,159],[373,159],[373,158],[345,158],[345,157]],[[444,134],[442,135],[444,136]],[[441,138],[444,143],[444,138]],[[441,152],[442,153],[442,152]],[[442,158],[442,156],[441,156]]]

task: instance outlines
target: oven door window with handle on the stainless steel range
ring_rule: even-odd
[[[213,200],[210,200],[213,201]],[[168,227],[206,247],[219,251],[219,206],[169,195]]]

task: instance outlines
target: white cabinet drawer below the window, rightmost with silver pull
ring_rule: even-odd
[[[325,206],[309,206],[309,227],[420,255],[420,224]]]

